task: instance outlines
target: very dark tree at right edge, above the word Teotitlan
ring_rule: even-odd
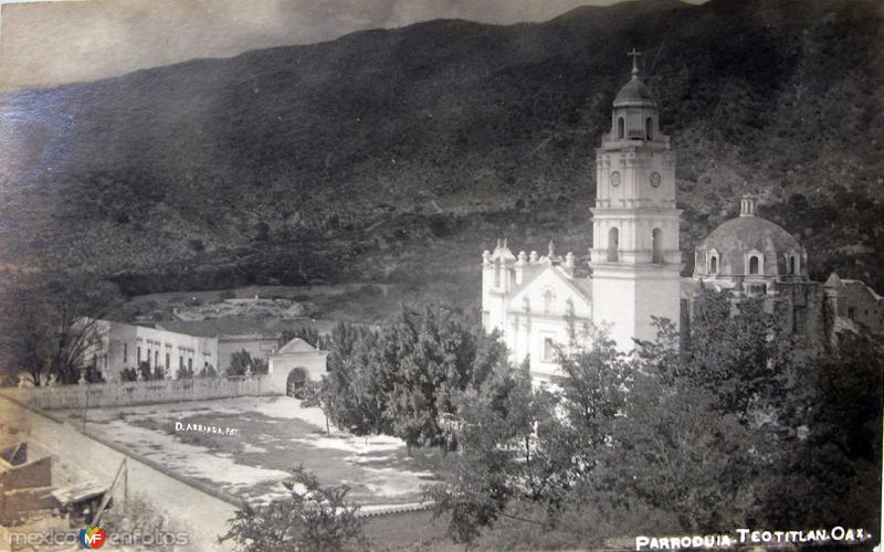
[[[838,337],[797,382],[800,406],[765,496],[766,514],[780,526],[881,519],[884,347],[867,335]]]

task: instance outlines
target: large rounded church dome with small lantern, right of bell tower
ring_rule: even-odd
[[[757,216],[755,198],[745,197],[739,216],[715,229],[697,247],[694,277],[800,277],[804,264],[804,250],[798,240]]]

